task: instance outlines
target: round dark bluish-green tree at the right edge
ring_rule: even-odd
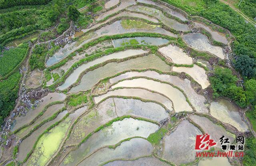
[[[240,55],[236,59],[235,67],[243,76],[248,78],[252,78],[256,74],[256,62],[247,55]]]

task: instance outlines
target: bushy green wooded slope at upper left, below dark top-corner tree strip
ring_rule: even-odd
[[[45,8],[25,8],[0,14],[0,43],[6,43],[45,30],[55,22],[65,11],[63,0],[53,0],[51,6]]]

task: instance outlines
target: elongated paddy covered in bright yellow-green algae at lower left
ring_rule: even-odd
[[[26,165],[45,165],[49,158],[51,158],[51,156],[58,150],[70,124],[71,118],[68,117],[58,124],[58,126],[44,134],[38,140],[36,148],[32,152]]]

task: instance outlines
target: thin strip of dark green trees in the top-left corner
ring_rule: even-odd
[[[47,4],[51,0],[0,0],[0,9],[10,8],[20,5],[38,5]]]

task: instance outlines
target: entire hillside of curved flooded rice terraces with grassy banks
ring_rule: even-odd
[[[203,150],[195,150],[196,135],[209,134],[216,151],[222,135],[233,143],[248,130],[234,103],[211,96],[209,72],[227,58],[212,39],[229,45],[226,34],[158,0],[101,5],[104,12],[95,14],[88,28],[47,58],[44,71],[34,70],[26,79],[29,90],[50,92],[12,122],[15,161],[230,166],[232,159],[202,159],[196,152]],[[202,29],[211,38],[199,33]]]

